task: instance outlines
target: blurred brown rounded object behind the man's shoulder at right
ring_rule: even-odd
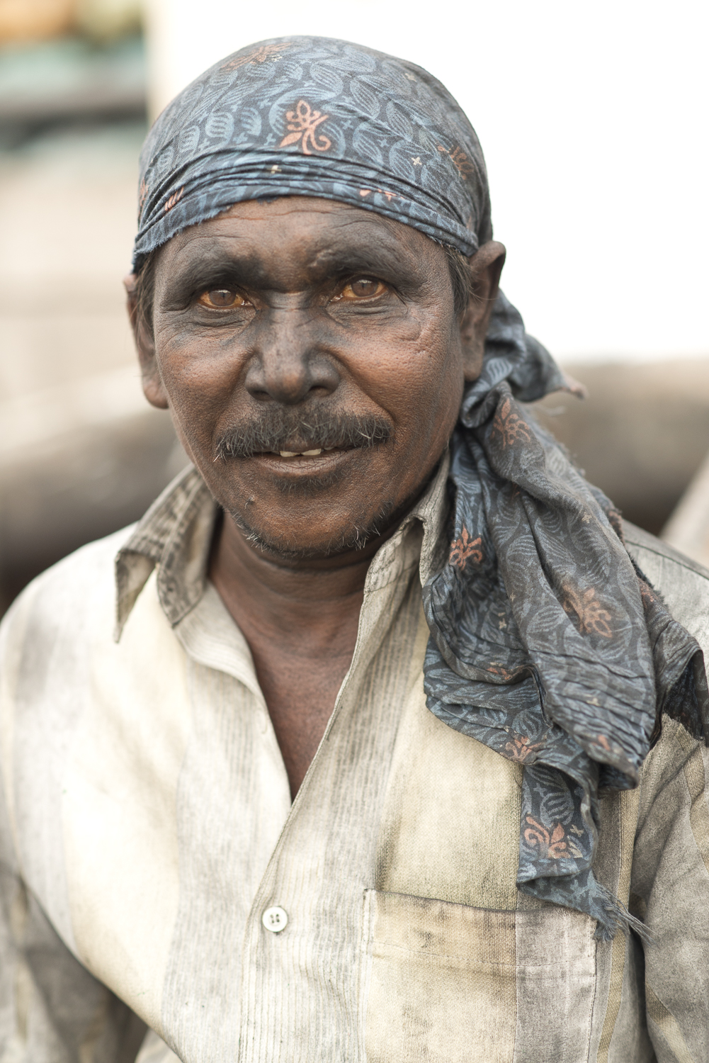
[[[572,366],[588,388],[534,404],[634,524],[658,535],[709,452],[709,359]]]

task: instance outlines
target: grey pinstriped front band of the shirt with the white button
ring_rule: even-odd
[[[408,551],[402,549],[407,536]],[[404,614],[411,611],[405,598],[413,589],[420,535],[413,549],[410,536],[410,526],[401,529],[372,562],[352,665],[251,908],[242,954],[242,1063],[313,1059],[314,1051],[323,1059],[364,1059],[357,973],[364,889],[396,726],[382,706],[377,715],[376,697],[366,688],[391,618],[406,623]],[[362,729],[369,731],[364,742]],[[367,787],[359,786],[360,770],[352,767],[356,756],[361,771],[371,773]],[[352,807],[343,800],[350,792]],[[334,860],[338,846],[341,859]],[[335,961],[324,975],[327,957]],[[304,996],[320,997],[322,1007]],[[319,1014],[327,1022],[318,1032]],[[345,1043],[355,1029],[357,1044]]]

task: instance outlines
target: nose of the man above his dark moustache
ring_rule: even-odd
[[[317,316],[300,308],[270,309],[255,327],[246,377],[252,398],[296,405],[314,392],[332,394],[340,374],[328,356]]]

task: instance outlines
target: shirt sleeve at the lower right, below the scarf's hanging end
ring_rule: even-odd
[[[642,771],[630,907],[658,1063],[709,1063],[709,752],[675,721]]]

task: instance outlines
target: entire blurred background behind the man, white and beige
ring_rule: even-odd
[[[709,564],[704,0],[0,0],[0,612],[185,463],[123,307],[148,122],[288,33],[441,78],[480,137],[504,288],[586,384],[538,404],[625,516]]]

